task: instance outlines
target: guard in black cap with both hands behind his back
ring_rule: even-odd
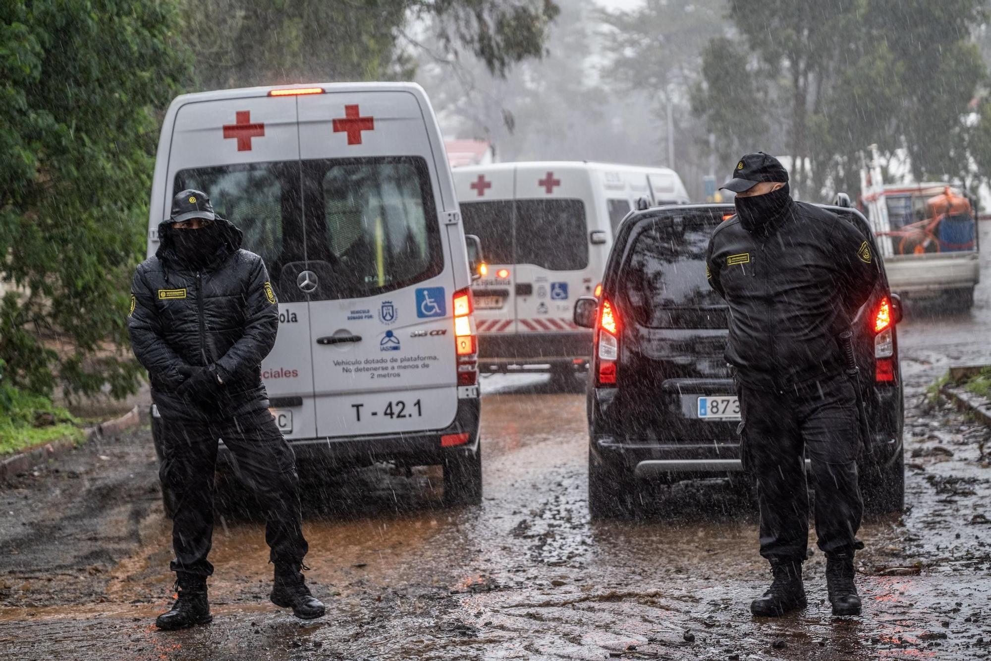
[[[722,188],[736,194],[736,214],[713,233],[708,276],[730,311],[741,456],[757,479],[760,554],[774,576],[750,610],[771,616],[806,605],[807,457],[832,612],[857,614],[860,438],[838,335],[870,297],[877,264],[857,228],[791,198],[788,172],[772,156],[747,154]]]

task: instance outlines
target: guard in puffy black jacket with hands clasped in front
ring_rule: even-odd
[[[171,570],[178,598],[156,620],[162,629],[212,619],[206,578],[213,566],[206,558],[218,439],[266,510],[273,602],[298,617],[324,614],[301,574],[307,546],[295,459],[262,385],[262,359],[278,331],[278,302],[262,258],[242,250],[241,238],[206,194],[183,191],[159,225],[158,251],[138,266],[131,287],[131,344],[148,369],[162,416],[160,477],[175,503]]]

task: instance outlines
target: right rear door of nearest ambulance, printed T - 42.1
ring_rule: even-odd
[[[451,251],[465,247],[442,228],[429,106],[403,89],[298,100],[317,434],[443,429],[458,403]]]

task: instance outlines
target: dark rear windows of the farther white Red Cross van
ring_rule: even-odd
[[[482,239],[493,264],[533,264],[549,271],[589,265],[585,203],[581,199],[461,202],[465,232]]]

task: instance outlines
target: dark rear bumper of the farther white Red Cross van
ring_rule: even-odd
[[[506,332],[479,335],[479,369],[505,371],[508,365],[584,365],[592,355],[592,331]]]

